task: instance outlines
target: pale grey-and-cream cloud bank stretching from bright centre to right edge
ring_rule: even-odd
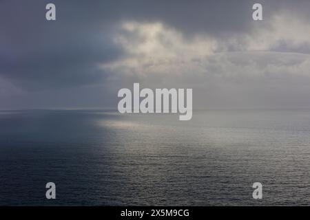
[[[194,88],[196,100],[200,100],[196,107],[309,106],[310,55],[296,52],[308,39],[282,35],[285,25],[278,22],[276,17],[271,30],[223,41],[203,34],[189,40],[163,23],[127,21],[115,39],[125,55],[101,67],[119,75],[124,87],[141,82],[145,87]],[[291,33],[309,30],[307,23],[299,24]],[[260,37],[265,39],[263,43]],[[285,51],[280,52],[280,47],[273,50],[279,40],[294,43]]]

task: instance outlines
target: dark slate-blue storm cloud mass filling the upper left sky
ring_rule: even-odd
[[[56,4],[57,21],[48,22],[45,5],[44,1],[1,2],[0,74],[26,89],[104,79],[106,73],[98,64],[121,56],[121,48],[112,42],[113,24],[80,20],[74,5],[62,9],[61,3]]]

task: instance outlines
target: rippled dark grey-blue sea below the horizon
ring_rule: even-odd
[[[310,205],[309,177],[309,110],[0,112],[0,205]]]

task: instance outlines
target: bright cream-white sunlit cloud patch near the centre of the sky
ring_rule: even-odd
[[[197,36],[188,41],[162,23],[124,23],[116,43],[122,45],[125,58],[102,67],[141,77],[197,72],[199,61],[218,47],[215,39]]]

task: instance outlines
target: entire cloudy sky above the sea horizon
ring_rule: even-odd
[[[310,107],[309,10],[302,0],[0,0],[0,109],[116,108],[133,83],[192,88],[194,109]]]

